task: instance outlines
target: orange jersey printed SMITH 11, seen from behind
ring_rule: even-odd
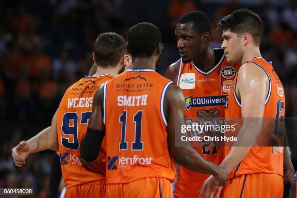
[[[128,69],[104,84],[107,184],[174,180],[163,110],[171,83],[152,69]]]

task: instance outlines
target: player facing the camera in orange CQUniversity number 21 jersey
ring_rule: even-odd
[[[186,101],[184,116],[190,125],[197,122],[197,118],[200,124],[224,124],[226,96],[239,68],[239,64],[227,62],[223,49],[210,47],[211,34],[209,18],[199,11],[181,16],[175,29],[181,59],[168,67],[165,77],[181,87]],[[204,99],[218,100],[199,102]],[[211,134],[217,135],[193,132],[191,136]],[[212,141],[202,143],[196,145],[195,150],[204,159],[219,165],[223,159],[223,147],[217,147]],[[197,192],[208,176],[180,166],[174,197],[197,198]]]

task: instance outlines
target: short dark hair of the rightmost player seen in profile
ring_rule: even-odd
[[[250,33],[254,44],[260,46],[263,35],[263,24],[260,17],[254,12],[242,9],[232,12],[218,22],[218,31],[229,30],[233,33]]]

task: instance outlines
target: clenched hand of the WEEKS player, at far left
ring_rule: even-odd
[[[21,141],[15,148],[12,149],[12,156],[16,166],[22,167],[25,160],[30,154],[30,149],[27,141]]]

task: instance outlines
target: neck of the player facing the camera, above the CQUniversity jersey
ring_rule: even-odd
[[[207,48],[201,56],[193,59],[193,63],[202,71],[207,72],[211,70],[215,65],[214,50],[211,47]]]

